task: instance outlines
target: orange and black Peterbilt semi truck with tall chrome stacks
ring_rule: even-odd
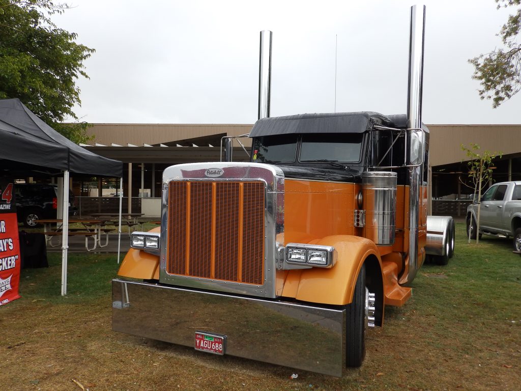
[[[250,162],[165,170],[161,227],[132,234],[113,280],[115,331],[334,376],[362,364],[366,329],[454,250],[452,218],[427,216],[423,18],[406,115],[270,118],[261,50]]]

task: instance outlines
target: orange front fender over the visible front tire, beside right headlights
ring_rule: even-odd
[[[310,245],[332,246],[337,263],[329,268],[312,267],[290,270],[284,282],[282,296],[313,303],[345,305],[351,303],[356,278],[365,260],[374,255],[382,273],[382,263],[375,243],[369,239],[350,236],[327,236],[309,242]],[[383,280],[383,275],[382,275]]]

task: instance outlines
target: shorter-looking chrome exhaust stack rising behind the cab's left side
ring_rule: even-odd
[[[261,31],[261,53],[259,55],[258,119],[268,118],[271,106],[271,36],[271,31]]]

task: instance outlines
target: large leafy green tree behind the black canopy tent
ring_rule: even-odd
[[[93,49],[49,19],[68,6],[52,0],[0,0],[0,99],[17,97],[45,123],[75,142],[85,142],[86,123],[72,111],[81,104],[78,77]]]

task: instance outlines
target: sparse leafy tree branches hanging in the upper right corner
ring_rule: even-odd
[[[499,8],[521,5],[521,0],[495,0]],[[521,29],[521,7],[508,20],[498,34],[504,44],[488,54],[469,59],[474,65],[473,79],[479,80],[481,99],[492,99],[492,107],[498,107],[521,89],[521,44],[516,41]]]

